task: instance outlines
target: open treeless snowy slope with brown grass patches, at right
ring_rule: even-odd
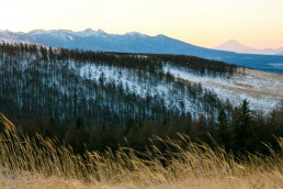
[[[235,105],[239,105],[244,99],[247,99],[253,110],[269,112],[283,100],[282,75],[246,69],[245,74],[225,79],[201,77],[170,66],[165,67],[165,70],[189,82],[200,82],[216,92],[220,99],[228,99]]]

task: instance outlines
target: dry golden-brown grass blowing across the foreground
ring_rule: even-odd
[[[156,138],[167,153],[152,143],[143,154],[121,147],[80,156],[56,140],[26,136],[2,114],[0,122],[0,188],[283,188],[282,137],[282,151],[270,156],[236,158],[181,134]]]

